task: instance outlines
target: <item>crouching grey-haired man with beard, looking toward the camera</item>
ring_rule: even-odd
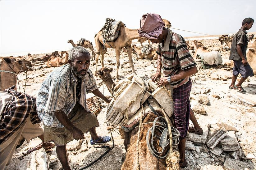
[[[45,142],[55,142],[57,156],[64,170],[69,170],[66,144],[73,139],[84,139],[88,131],[90,143],[111,141],[109,136],[100,137],[95,127],[96,116],[86,107],[85,93],[93,93],[105,102],[92,71],[89,70],[90,54],[81,46],[69,51],[68,64],[58,67],[44,80],[36,100],[37,112],[44,126]]]

